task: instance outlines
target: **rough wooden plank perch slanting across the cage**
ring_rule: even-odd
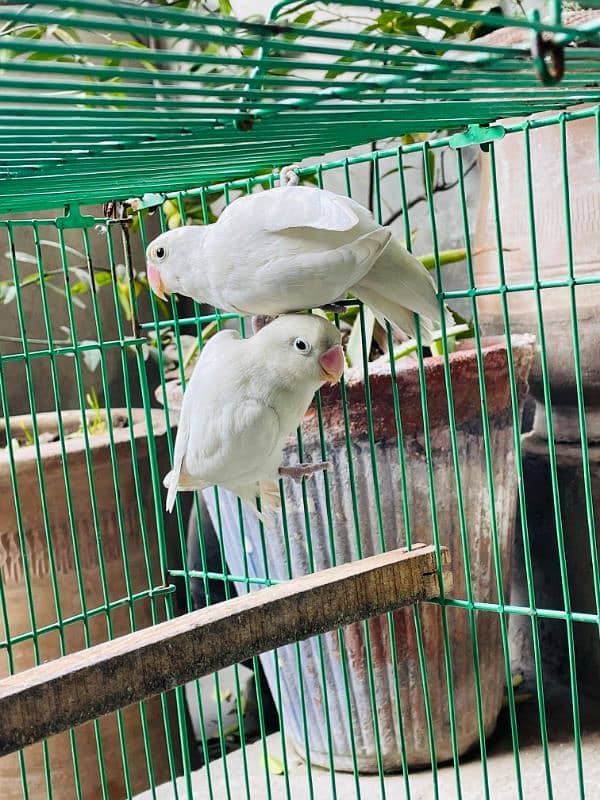
[[[452,586],[442,548],[444,586]],[[258,653],[439,594],[415,545],[294,578],[0,681],[0,755]]]

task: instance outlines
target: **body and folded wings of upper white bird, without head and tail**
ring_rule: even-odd
[[[221,308],[271,315],[314,308],[345,297],[390,236],[332,192],[270,189],[235,200],[211,226],[203,276]]]

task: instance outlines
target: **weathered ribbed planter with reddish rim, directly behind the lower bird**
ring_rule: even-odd
[[[468,345],[467,345],[468,347]],[[531,337],[514,337],[512,350],[518,376],[519,398],[527,390],[527,376],[534,354]],[[487,386],[493,474],[496,491],[496,519],[502,559],[504,586],[508,590],[511,548],[514,537],[517,498],[514,469],[513,429],[507,371],[506,346],[502,340],[487,343],[484,349],[484,368]],[[444,361],[436,357],[426,360],[427,397],[431,425],[431,444],[437,516],[442,544],[450,548],[454,573],[454,596],[464,598],[465,576],[461,552],[460,528],[456,500],[454,465],[450,451],[450,431]],[[455,417],[458,429],[460,471],[464,491],[465,515],[472,565],[473,595],[476,600],[496,602],[495,573],[490,535],[490,508],[486,485],[486,465],[482,439],[480,399],[477,383],[477,364],[473,349],[461,349],[451,356]],[[372,418],[376,439],[375,455],[382,500],[382,515],[386,548],[405,544],[405,525],[402,512],[402,484],[398,460],[396,425],[392,400],[389,365],[373,367],[370,375]],[[402,424],[405,440],[407,485],[412,539],[432,541],[427,464],[424,455],[423,422],[417,366],[400,362],[397,372]],[[353,522],[352,495],[349,480],[349,458],[355,471],[355,487],[360,518],[362,555],[380,552],[377,528],[371,454],[368,441],[367,416],[362,377],[350,372],[347,380],[348,411],[352,438],[349,454],[345,443],[343,409],[338,388],[323,390],[323,413],[326,429],[327,457],[333,463],[329,473],[331,487],[333,541],[336,563],[359,558]],[[306,456],[320,459],[318,421],[314,407],[303,425]],[[295,443],[290,442],[286,453],[289,461],[297,460]],[[311,523],[311,546],[314,568],[324,569],[333,563],[329,547],[324,482],[318,477],[306,484]],[[241,543],[237,503],[226,492],[220,492],[225,553],[233,574],[244,574],[244,562],[254,577],[285,580],[288,560],[285,541],[280,529],[265,534],[264,548],[268,564],[263,560],[263,547],[258,526],[251,513],[246,513],[245,540]],[[287,519],[292,574],[310,572],[308,543],[304,523],[304,506],[300,487],[286,484]],[[205,498],[214,515],[213,492]],[[245,551],[245,552],[244,552]],[[238,572],[239,570],[239,572]],[[243,593],[247,588],[238,587]],[[423,624],[429,696],[435,730],[436,760],[451,757],[447,677],[441,629],[441,610],[433,604],[420,608]],[[415,640],[413,612],[406,609],[394,614],[396,641],[392,645],[386,617],[371,620],[370,653],[375,678],[375,708],[377,710],[383,762],[386,770],[401,767],[398,740],[397,711],[394,702],[394,675],[391,647],[398,659],[398,678],[401,693],[402,717],[410,765],[430,762],[429,741],[425,718],[423,688]],[[478,741],[475,713],[473,654],[468,615],[465,609],[448,608],[450,647],[457,715],[458,747],[461,753]],[[486,734],[490,734],[502,705],[505,673],[500,640],[499,619],[496,614],[476,615],[479,643],[480,674]],[[325,660],[323,691],[319,652],[316,639],[300,643],[301,673],[304,703],[308,719],[309,752],[304,748],[304,728],[301,713],[301,694],[298,682],[296,651],[293,646],[278,651],[278,666],[283,694],[283,714],[286,734],[294,747],[315,764],[328,764],[325,703],[328,703],[332,726],[332,743],[336,769],[352,769],[350,725],[354,732],[359,769],[377,769],[372,703],[369,694],[367,655],[362,624],[345,629],[346,661],[350,683],[351,720],[348,719],[339,640],[337,633],[322,637]],[[261,656],[263,667],[276,697],[274,659],[272,653]]]

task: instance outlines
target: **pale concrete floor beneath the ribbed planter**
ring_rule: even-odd
[[[573,745],[573,722],[570,713],[571,701],[568,691],[557,690],[546,695],[546,715],[548,720],[548,737],[550,741],[550,770],[554,800],[575,800],[583,795],[578,782],[577,761]],[[581,741],[583,781],[585,797],[588,800],[600,798],[600,703],[580,698]],[[537,703],[524,702],[517,707],[518,731],[520,744],[522,797],[529,800],[542,800],[548,797],[546,776],[539,737],[539,718]],[[266,741],[269,756],[281,759],[281,739],[279,734],[272,734]],[[382,792],[379,778],[376,775],[360,776],[360,795],[350,774],[335,773],[335,791],[330,773],[313,767],[312,795],[308,787],[308,772],[304,762],[294,753],[291,746],[287,748],[289,795],[286,792],[286,776],[268,775],[270,797],[272,800],[283,800],[288,796],[291,800],[328,800],[337,796],[339,800],[377,800],[394,798],[400,800],[407,797],[402,775],[388,775],[385,778],[385,794]],[[246,792],[242,752],[240,750],[228,755],[225,775],[223,760],[210,764],[210,780],[214,800],[266,800],[269,797],[266,787],[262,743],[255,742],[246,748],[246,762],[249,772],[250,794]],[[275,765],[276,766],[276,765]],[[229,789],[227,788],[227,780]],[[409,775],[411,800],[434,800],[434,784],[430,770],[415,771]],[[460,784],[463,800],[483,800],[486,797],[483,772],[479,754],[462,759],[460,765]],[[516,800],[519,797],[516,782],[516,770],[512,752],[510,723],[508,714],[503,712],[496,732],[488,742],[488,786],[491,800]],[[452,767],[438,769],[439,800],[457,798],[456,775]],[[186,792],[185,782],[178,780],[179,797],[186,800],[204,800],[209,798],[207,772],[203,768],[192,775],[192,792]],[[150,800],[150,793],[139,795],[138,800]],[[175,797],[173,787],[159,787],[158,800],[171,800]]]

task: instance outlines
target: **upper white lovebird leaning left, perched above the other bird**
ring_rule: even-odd
[[[176,228],[146,250],[148,282],[238,314],[276,316],[334,303],[348,292],[424,341],[439,329],[429,272],[348,197],[283,186],[234,200],[212,225]],[[447,324],[452,325],[450,315]]]

